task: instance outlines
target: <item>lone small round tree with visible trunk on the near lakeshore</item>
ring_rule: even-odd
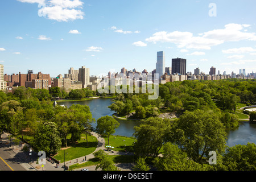
[[[119,127],[120,123],[113,117],[106,115],[97,120],[96,131],[98,134],[108,136],[108,144],[110,135],[115,133],[115,129]]]

